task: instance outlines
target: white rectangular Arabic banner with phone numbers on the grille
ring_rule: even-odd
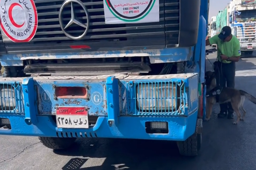
[[[106,24],[159,22],[159,0],[104,0]]]

